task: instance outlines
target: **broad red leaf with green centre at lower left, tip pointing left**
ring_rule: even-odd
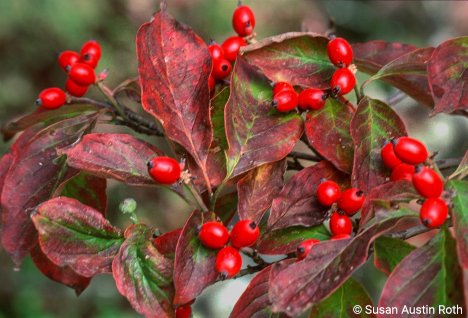
[[[111,271],[123,236],[101,212],[58,197],[42,203],[32,220],[42,251],[55,264],[86,277]]]

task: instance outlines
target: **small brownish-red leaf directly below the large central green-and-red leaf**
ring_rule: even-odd
[[[237,211],[241,220],[260,223],[265,211],[283,187],[286,161],[267,163],[249,171],[237,182]]]

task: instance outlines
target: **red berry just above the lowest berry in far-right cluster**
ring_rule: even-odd
[[[444,190],[442,178],[428,167],[416,167],[413,175],[413,186],[420,195],[426,198],[440,197]]]

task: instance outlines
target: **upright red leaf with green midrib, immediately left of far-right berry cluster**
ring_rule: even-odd
[[[352,184],[368,193],[388,179],[388,168],[380,151],[384,143],[406,135],[406,128],[397,113],[376,99],[361,100],[351,121],[354,141]]]

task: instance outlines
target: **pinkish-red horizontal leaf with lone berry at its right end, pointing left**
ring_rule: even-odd
[[[147,163],[162,155],[156,147],[127,134],[89,134],[61,153],[76,169],[131,185],[155,185]]]

